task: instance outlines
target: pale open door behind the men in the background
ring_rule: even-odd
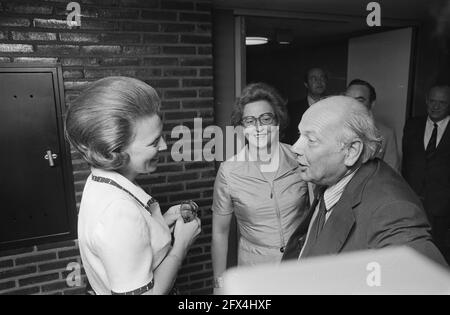
[[[401,154],[403,126],[408,116],[413,29],[404,28],[349,40],[347,84],[370,82],[377,91],[375,118],[393,128]]]

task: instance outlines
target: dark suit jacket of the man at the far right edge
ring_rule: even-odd
[[[436,153],[425,158],[423,137],[427,117],[409,120],[403,133],[402,173],[433,216],[450,216],[450,124]]]

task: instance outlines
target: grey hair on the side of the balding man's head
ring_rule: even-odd
[[[340,141],[347,145],[355,139],[363,143],[359,162],[364,164],[373,160],[381,149],[383,137],[380,135],[370,111],[363,106],[352,107],[344,119],[344,129]]]

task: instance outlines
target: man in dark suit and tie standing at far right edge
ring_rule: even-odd
[[[450,87],[433,86],[426,99],[428,116],[409,120],[403,133],[406,181],[419,195],[442,252],[450,227]]]

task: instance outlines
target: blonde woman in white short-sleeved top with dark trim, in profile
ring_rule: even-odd
[[[160,99],[136,79],[94,82],[69,107],[66,136],[91,165],[78,220],[81,258],[98,295],[167,294],[195,237],[197,218],[184,223],[179,206],[162,215],[135,182],[156,170]],[[174,243],[171,245],[171,228]]]

